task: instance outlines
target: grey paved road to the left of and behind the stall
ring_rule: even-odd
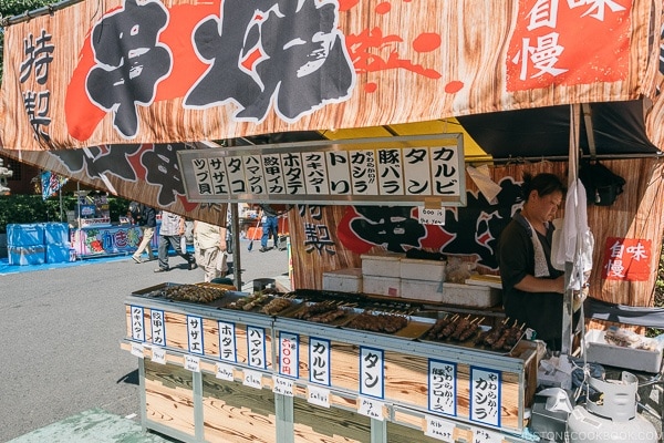
[[[288,274],[286,251],[253,246],[241,244],[243,282]],[[137,361],[120,349],[124,299],[164,281],[203,281],[172,257],[178,265],[154,274],[155,261],[127,256],[0,276],[0,442],[93,408],[139,415]]]

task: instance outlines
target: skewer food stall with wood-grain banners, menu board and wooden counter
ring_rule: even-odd
[[[302,2],[257,14],[232,1],[114,0],[100,14],[96,3],[74,1],[8,28],[7,48],[43,35],[42,43],[53,38],[68,51],[49,60],[58,76],[6,71],[2,143],[52,150],[70,173],[98,166],[121,177],[106,181],[125,182],[127,195],[146,184],[142,202],[212,223],[219,213],[207,205],[224,215],[228,203],[297,205],[289,219],[293,287],[315,291],[325,272],[349,272],[359,284],[351,270],[363,267],[363,256],[406,249],[458,257],[476,267],[478,280],[490,279],[495,239],[518,203],[522,173],[564,175],[570,150],[579,150],[626,181],[614,205],[589,210],[600,239],[591,297],[652,306],[664,230],[663,75],[653,44],[662,4],[557,6],[548,10],[554,17],[526,1],[485,0]],[[149,29],[135,23],[146,20]],[[61,22],[85,24],[63,33]],[[120,48],[108,29],[132,32],[136,48]],[[123,55],[146,63],[108,71]],[[9,51],[6,62],[24,65],[23,56]],[[125,81],[116,81],[123,73]],[[132,101],[135,91],[142,93]],[[25,94],[49,96],[48,125],[21,131],[35,127],[32,113],[17,105]],[[580,104],[582,114],[570,112]],[[572,143],[579,132],[582,143]],[[65,154],[81,151],[72,148],[87,151]],[[479,174],[466,168],[484,163],[488,171]],[[438,320],[457,315],[488,332],[502,323],[500,309],[468,311],[461,296],[461,302],[427,298],[435,309],[413,310],[422,292],[443,297],[459,288],[397,274],[366,277],[375,286],[366,291],[362,274],[354,298],[366,292],[370,300],[349,300],[357,306],[347,309],[357,317],[397,309],[421,334],[357,330],[352,319],[328,328],[210,309],[174,301],[164,293],[169,285],[128,295],[123,347],[138,357],[145,427],[183,441],[530,437],[537,342],[519,340],[496,353],[477,342],[427,340]],[[398,308],[371,305],[376,297]],[[315,302],[299,293],[276,298]],[[311,356],[314,344],[325,357]],[[329,382],[312,378],[312,368],[322,368],[314,358],[331,364]],[[439,379],[449,383],[438,387]],[[406,381],[413,387],[404,391]]]

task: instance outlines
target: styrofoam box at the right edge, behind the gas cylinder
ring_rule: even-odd
[[[644,372],[660,372],[662,350],[623,348],[604,341],[604,331],[591,329],[585,333],[585,359],[593,363],[633,369]]]

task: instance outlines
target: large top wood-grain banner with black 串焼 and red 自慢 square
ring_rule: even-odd
[[[49,11],[4,28],[9,150],[334,133],[643,95],[658,102],[646,131],[664,144],[652,32],[663,18],[650,0],[84,0]]]

